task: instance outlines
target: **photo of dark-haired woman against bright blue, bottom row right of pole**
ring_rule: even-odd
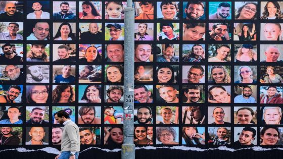
[[[203,132],[203,134],[200,134]],[[204,145],[205,144],[204,127],[183,127],[182,144],[185,145]]]

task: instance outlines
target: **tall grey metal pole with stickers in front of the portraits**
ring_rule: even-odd
[[[133,88],[134,88],[134,9],[132,1],[127,0],[125,8],[125,40],[124,40],[124,143],[122,159],[134,159],[133,143]]]

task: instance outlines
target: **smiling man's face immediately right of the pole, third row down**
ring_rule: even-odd
[[[134,50],[135,62],[146,62],[151,56],[152,47],[150,44],[138,44]]]

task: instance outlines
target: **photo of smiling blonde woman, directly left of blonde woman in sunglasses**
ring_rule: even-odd
[[[208,66],[208,83],[231,83],[230,66]]]

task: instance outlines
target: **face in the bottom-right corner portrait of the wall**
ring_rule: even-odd
[[[279,134],[275,129],[269,128],[263,135],[260,135],[260,138],[262,139],[261,145],[275,145],[278,141]]]

